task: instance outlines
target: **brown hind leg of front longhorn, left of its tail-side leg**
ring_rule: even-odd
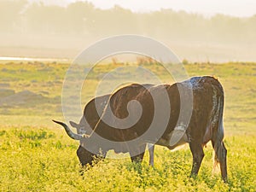
[[[190,173],[191,176],[196,176],[199,172],[201,161],[204,158],[204,151],[200,143],[189,143],[189,148],[193,155],[193,165]]]

